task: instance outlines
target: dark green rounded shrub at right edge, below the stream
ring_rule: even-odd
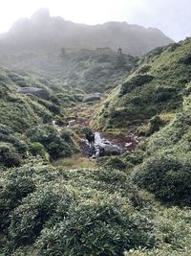
[[[164,201],[190,205],[190,155],[161,153],[145,160],[136,169],[133,180],[140,188],[154,193]]]

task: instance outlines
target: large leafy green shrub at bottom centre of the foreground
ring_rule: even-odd
[[[38,254],[122,256],[125,248],[153,246],[151,228],[115,204],[73,204],[65,221],[42,231]]]

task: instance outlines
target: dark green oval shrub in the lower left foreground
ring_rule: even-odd
[[[11,213],[9,236],[13,247],[35,241],[45,221],[53,216],[59,199],[49,190],[36,191],[23,199],[22,205]]]

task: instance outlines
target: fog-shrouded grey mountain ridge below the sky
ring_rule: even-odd
[[[31,19],[20,18],[10,32],[0,36],[0,52],[32,51],[41,48],[53,50],[60,47],[87,48],[110,47],[124,53],[141,55],[173,40],[158,29],[126,22],[107,22],[102,25],[85,25],[51,16],[48,9],[40,9]]]

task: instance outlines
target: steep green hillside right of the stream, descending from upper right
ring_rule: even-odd
[[[191,80],[191,38],[157,48],[139,61],[138,69],[97,106],[96,128],[127,128],[166,111],[176,111]]]

